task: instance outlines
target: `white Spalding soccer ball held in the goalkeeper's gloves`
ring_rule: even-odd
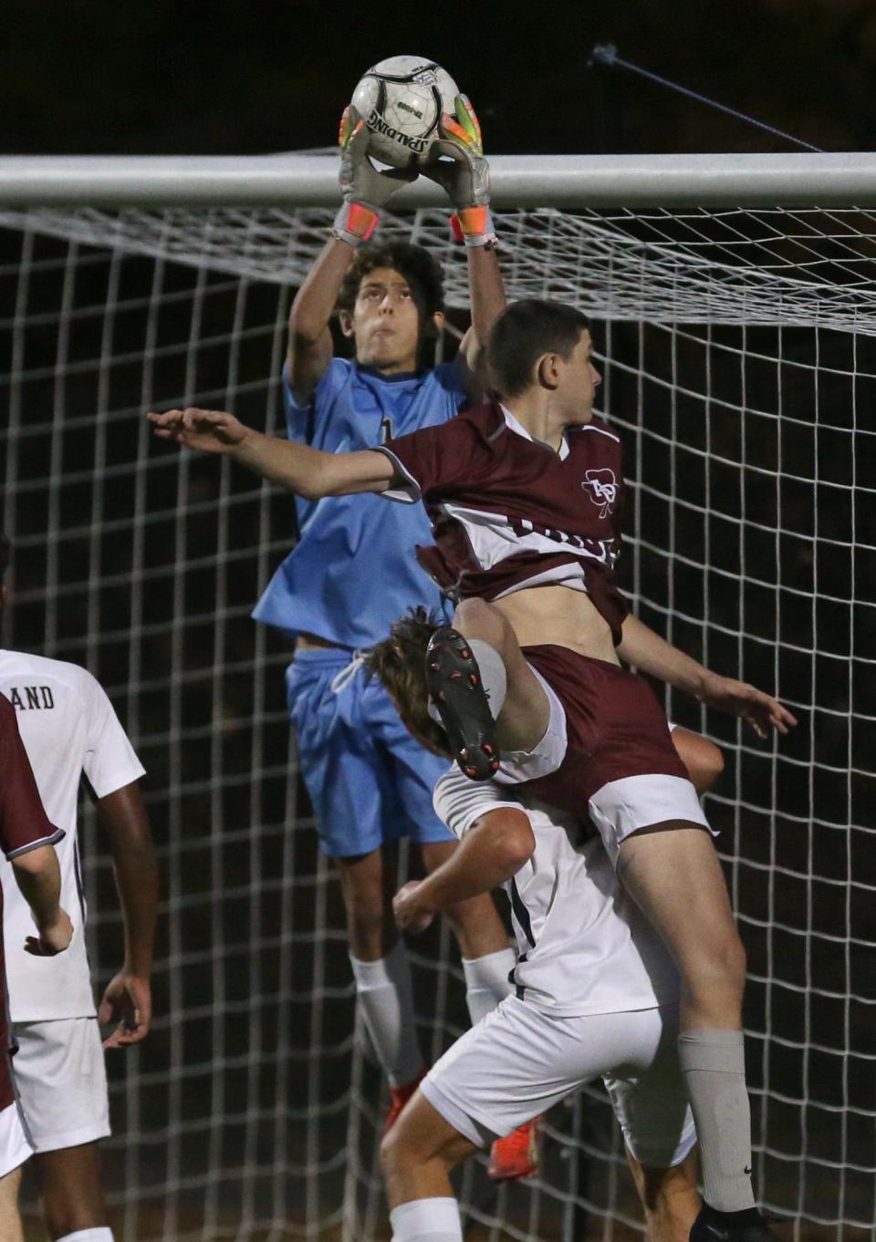
[[[390,56],[370,68],[352,104],[370,130],[369,154],[393,168],[427,159],[444,112],[454,113],[456,82],[422,56]]]

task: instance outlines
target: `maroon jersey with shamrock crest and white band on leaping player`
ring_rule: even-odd
[[[442,590],[498,600],[569,586],[590,596],[620,642],[621,447],[600,419],[569,428],[554,452],[492,404],[389,440],[380,452],[406,481],[381,494],[426,507],[435,546],[416,553]]]

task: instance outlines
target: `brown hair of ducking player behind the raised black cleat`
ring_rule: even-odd
[[[444,623],[419,604],[399,617],[388,638],[367,652],[364,663],[368,672],[380,681],[395,704],[401,723],[417,741],[451,759],[447,734],[429,714],[426,687],[426,647]]]

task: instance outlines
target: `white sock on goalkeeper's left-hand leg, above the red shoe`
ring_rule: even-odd
[[[398,940],[378,961],[359,961],[350,955],[350,965],[378,1061],[390,1087],[404,1087],[425,1068],[414,1026],[414,990],[405,946]]]

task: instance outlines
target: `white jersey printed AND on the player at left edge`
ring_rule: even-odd
[[[10,1013],[14,1022],[92,1017],[86,902],[76,840],[80,784],[84,775],[94,796],[106,797],[138,780],[144,769],[103,688],[84,668],[45,656],[0,651],[0,693],[16,710],[46,814],[66,832],[56,850],[61,905],[73,923],[66,953],[56,958],[25,953],[25,936],[34,934],[34,920],[9,874],[9,864],[0,862],[6,893],[2,934]]]

